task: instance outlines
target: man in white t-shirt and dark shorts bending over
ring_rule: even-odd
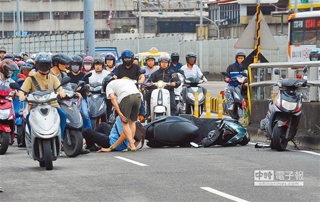
[[[107,99],[111,99],[112,105],[121,118],[124,135],[129,142],[128,148],[123,152],[135,152],[133,138],[136,132],[135,121],[138,119],[141,103],[139,90],[131,80],[115,80],[112,76],[103,80],[103,86],[106,87]]]

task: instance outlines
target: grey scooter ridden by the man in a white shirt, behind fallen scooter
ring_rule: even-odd
[[[204,102],[205,102],[205,95],[203,93],[203,90],[199,84],[203,83],[203,77],[208,75],[209,72],[203,72],[203,76],[200,78],[198,76],[189,76],[186,78],[183,70],[178,70],[180,74],[184,76],[184,86],[186,86],[186,106],[184,106],[184,113],[185,114],[192,114],[194,115],[194,109],[195,109],[195,93],[199,93],[198,99],[199,99],[199,116],[201,116],[204,108]]]

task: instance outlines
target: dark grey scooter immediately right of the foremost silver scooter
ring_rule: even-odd
[[[90,75],[92,74],[91,72],[89,73]],[[86,75],[84,75],[84,77]],[[77,88],[84,86],[84,84],[85,82],[83,80],[80,80],[73,89],[67,86],[63,86],[62,88],[66,92],[66,97],[58,99],[58,103],[61,109],[67,114],[67,125],[62,141],[63,151],[69,157],[78,156],[81,153],[83,147],[83,137],[81,132],[83,127],[83,120],[80,113],[79,105],[79,103],[81,103],[81,98],[77,96],[76,90]]]

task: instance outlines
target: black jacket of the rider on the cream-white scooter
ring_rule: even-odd
[[[178,88],[181,84],[179,77],[171,79],[171,75],[174,74],[176,72],[174,72],[171,69],[166,69],[166,70],[162,70],[161,68],[159,68],[158,70],[156,70],[155,72],[153,72],[148,80],[148,82],[152,81],[152,82],[158,82],[159,80],[162,80],[163,82],[175,82],[176,86],[172,87],[172,86],[166,86],[165,88],[168,90],[173,90],[173,88]]]

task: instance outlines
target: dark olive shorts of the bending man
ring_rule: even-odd
[[[141,95],[132,94],[124,97],[121,100],[119,104],[119,108],[125,118],[131,119],[132,121],[137,121],[140,104],[141,104]]]

